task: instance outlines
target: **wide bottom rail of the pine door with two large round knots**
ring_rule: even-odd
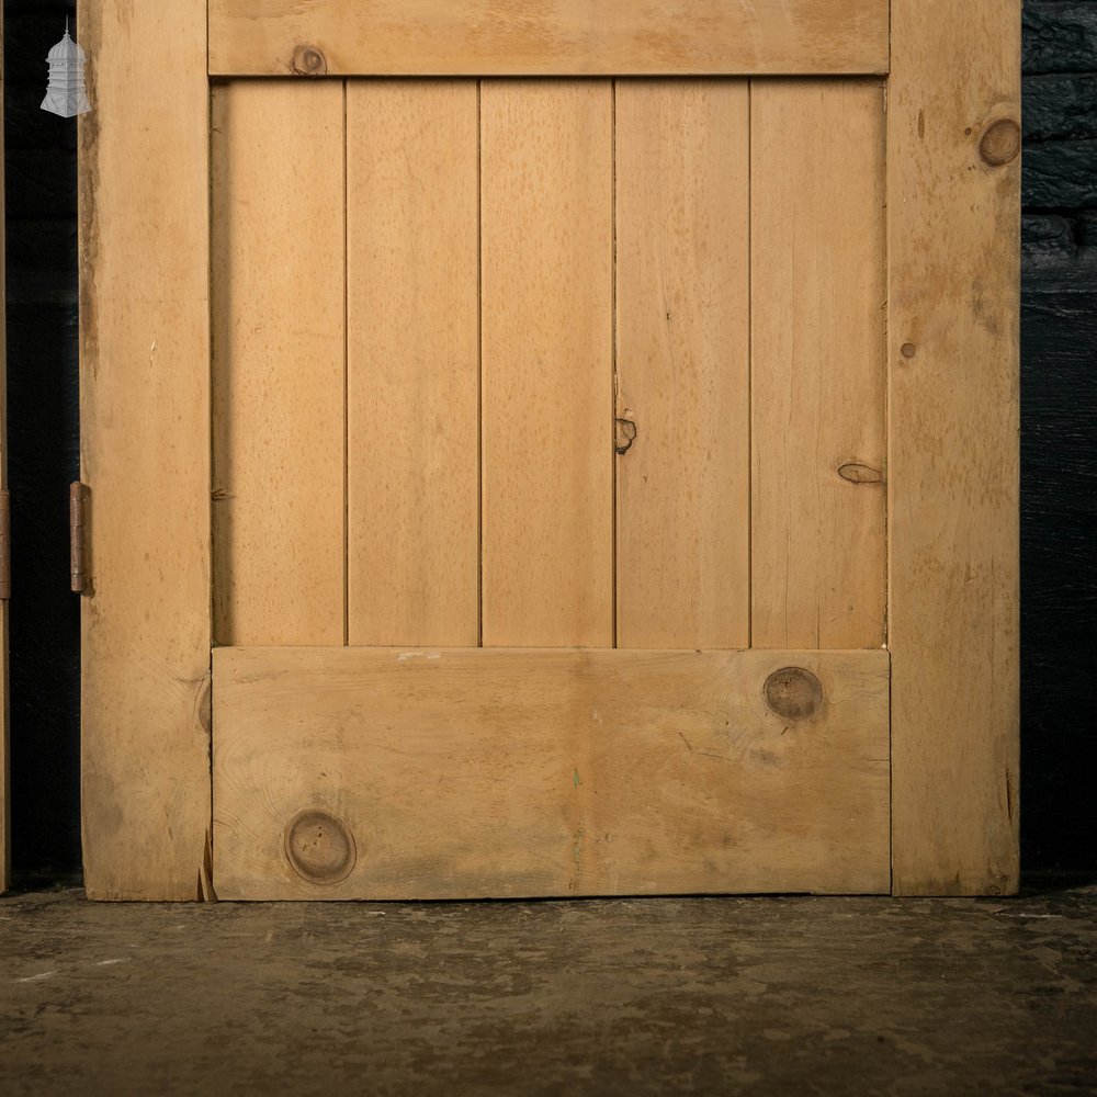
[[[770,675],[821,708],[768,708]],[[222,898],[889,886],[884,652],[214,653]]]

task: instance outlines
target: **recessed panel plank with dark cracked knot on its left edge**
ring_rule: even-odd
[[[618,644],[749,644],[746,81],[617,84]]]

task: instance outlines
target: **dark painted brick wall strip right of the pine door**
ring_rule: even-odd
[[[1021,834],[1097,867],[1097,2],[1025,5]]]

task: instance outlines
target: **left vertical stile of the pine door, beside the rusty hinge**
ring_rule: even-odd
[[[204,0],[81,10],[84,885],[195,898],[210,826]]]

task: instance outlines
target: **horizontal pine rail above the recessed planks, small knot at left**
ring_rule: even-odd
[[[214,75],[294,72],[303,44],[339,76],[885,72],[887,2],[211,0]]]

